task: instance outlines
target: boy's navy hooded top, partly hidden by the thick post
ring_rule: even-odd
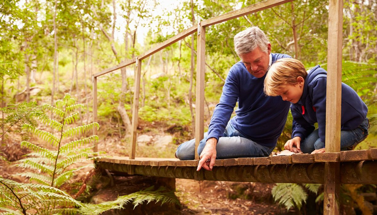
[[[326,127],[326,80],[327,72],[319,65],[314,67],[305,78],[302,96],[296,104],[291,104],[294,119],[292,137],[299,136],[301,141],[313,130],[318,122],[319,138],[325,142]],[[348,85],[342,83],[341,130],[352,130],[362,124],[368,107],[359,95]]]

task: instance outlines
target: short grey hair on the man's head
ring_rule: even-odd
[[[248,27],[234,36],[234,50],[237,55],[254,51],[257,47],[262,52],[268,52],[267,46],[270,43],[259,27]]]

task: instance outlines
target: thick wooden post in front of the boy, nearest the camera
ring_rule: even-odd
[[[340,117],[342,102],[342,29],[343,0],[329,0],[326,152],[340,152]],[[323,214],[339,214],[340,163],[325,163],[325,195]]]

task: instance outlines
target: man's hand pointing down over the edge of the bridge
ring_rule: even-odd
[[[210,138],[205,143],[204,149],[202,153],[200,154],[200,161],[198,164],[198,168],[196,171],[199,171],[202,167],[206,170],[211,171],[213,168],[213,165],[215,165],[216,160],[216,144],[217,140],[216,138]],[[210,160],[207,162],[207,160]]]

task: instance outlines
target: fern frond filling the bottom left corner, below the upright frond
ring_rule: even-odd
[[[77,214],[84,207],[66,192],[0,177],[0,214]]]

